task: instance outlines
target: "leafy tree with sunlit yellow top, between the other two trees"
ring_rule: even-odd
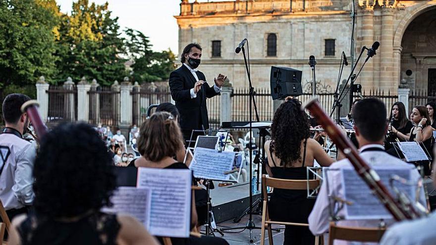
[[[85,76],[110,85],[127,74],[118,18],[110,14],[108,3],[89,4],[88,0],[73,2],[71,15],[63,14],[56,51],[58,82],[68,76],[76,81]]]

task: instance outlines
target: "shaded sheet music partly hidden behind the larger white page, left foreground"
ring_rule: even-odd
[[[129,214],[149,229],[151,195],[147,188],[119,187],[110,198],[113,206],[102,208],[102,212]]]

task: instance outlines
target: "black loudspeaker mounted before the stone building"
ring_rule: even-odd
[[[288,96],[297,97],[303,94],[301,86],[302,71],[288,67],[271,66],[271,96],[272,99],[284,99]]]

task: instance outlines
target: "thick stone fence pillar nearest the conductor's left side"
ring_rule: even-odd
[[[120,88],[120,124],[119,128],[125,135],[129,135],[129,128],[132,125],[132,83],[128,77],[124,77]],[[130,139],[128,139],[130,140]]]

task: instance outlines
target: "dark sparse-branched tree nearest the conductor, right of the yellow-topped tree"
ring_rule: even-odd
[[[161,81],[169,78],[169,73],[175,69],[176,59],[171,49],[153,52],[148,37],[142,32],[126,29],[127,36],[124,45],[127,56],[133,61],[132,77],[138,83]]]

